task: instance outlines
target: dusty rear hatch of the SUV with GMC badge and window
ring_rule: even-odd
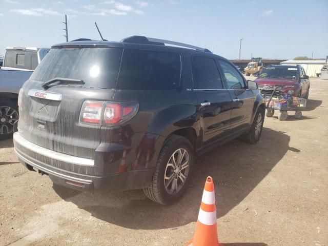
[[[121,48],[52,49],[20,92],[20,134],[38,146],[93,159],[100,126],[79,122],[81,106],[85,100],[113,99],[121,56]]]

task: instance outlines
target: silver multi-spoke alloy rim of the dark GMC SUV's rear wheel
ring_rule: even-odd
[[[189,173],[189,154],[180,148],[171,155],[165,169],[164,184],[166,191],[174,195],[185,185]]]

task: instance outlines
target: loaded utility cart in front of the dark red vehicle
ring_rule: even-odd
[[[305,110],[307,100],[293,95],[274,97],[274,93],[280,87],[283,86],[275,86],[271,96],[264,97],[265,106],[267,107],[265,115],[272,117],[275,110],[279,110],[278,119],[286,120],[288,118],[288,111],[295,111],[295,118],[300,119],[302,117],[302,111]]]

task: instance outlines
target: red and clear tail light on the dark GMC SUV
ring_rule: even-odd
[[[131,119],[138,111],[135,101],[84,101],[79,121],[98,126],[115,126]]]

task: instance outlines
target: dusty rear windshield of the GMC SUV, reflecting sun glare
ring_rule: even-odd
[[[82,79],[87,87],[115,88],[122,49],[51,49],[31,79],[46,82],[55,77]]]

